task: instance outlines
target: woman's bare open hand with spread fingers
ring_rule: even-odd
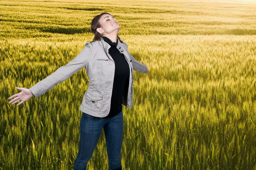
[[[12,99],[11,101],[9,101],[9,103],[15,104],[18,101],[20,101],[20,103],[16,105],[16,106],[19,106],[23,102],[29,100],[29,98],[33,97],[33,93],[31,92],[30,89],[21,88],[21,87],[15,87],[15,88],[18,89],[18,90],[21,90],[21,92],[15,94],[15,95],[12,95],[11,97],[9,97],[8,99],[16,97],[16,98]]]

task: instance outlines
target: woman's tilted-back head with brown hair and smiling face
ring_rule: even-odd
[[[96,17],[94,17],[91,22],[91,31],[94,34],[93,41],[100,40],[103,36],[109,34],[117,34],[119,32],[119,29],[120,26],[119,23],[116,21],[116,18],[114,18],[108,12],[102,12],[101,14],[96,15]],[[118,35],[117,38],[120,40],[120,37]],[[120,42],[122,43],[122,40],[120,40]]]

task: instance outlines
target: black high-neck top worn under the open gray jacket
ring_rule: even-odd
[[[103,36],[102,38],[111,45],[110,49],[108,49],[108,54],[111,55],[115,63],[110,112],[104,117],[111,118],[122,111],[122,96],[124,92],[127,92],[125,88],[129,86],[130,68],[125,56],[116,48],[118,43],[117,38],[116,43],[112,42],[108,37]]]

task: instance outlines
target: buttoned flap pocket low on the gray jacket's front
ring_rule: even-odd
[[[85,96],[85,107],[94,112],[99,112],[102,108],[102,94],[100,92],[87,89]]]

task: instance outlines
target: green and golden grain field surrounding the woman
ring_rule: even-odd
[[[150,74],[123,106],[124,170],[256,169],[256,1],[0,1],[0,170],[71,170],[85,69],[39,98],[30,88],[93,40],[109,12]],[[104,131],[87,165],[107,170]]]

